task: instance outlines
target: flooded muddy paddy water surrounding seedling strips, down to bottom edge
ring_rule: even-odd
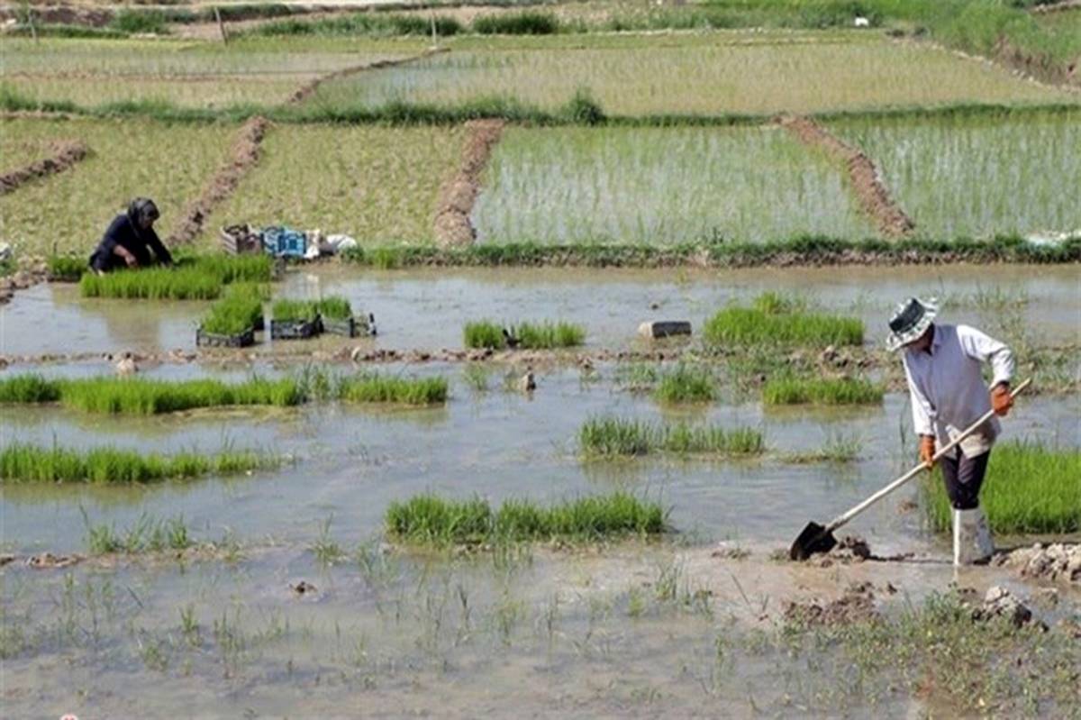
[[[586,351],[629,348],[640,342],[635,329],[642,320],[690,319],[698,329],[724,303],[768,289],[805,292],[824,307],[864,318],[868,343],[881,339],[893,302],[915,291],[942,297],[947,319],[990,329],[1012,317],[1032,342],[1062,345],[1081,341],[1079,279],[1075,268],[1026,267],[709,275],[326,268],[291,272],[277,292],[345,294],[378,320],[379,336],[359,343],[387,348],[458,348],[462,324],[485,317],[572,320],[587,329]],[[0,309],[0,354],[192,349],[204,309],[82,301],[74,286],[39,285]],[[165,363],[142,374],[239,381],[253,372],[299,372],[301,364],[270,357],[228,369]],[[912,560],[816,568],[770,559],[806,521],[832,518],[910,466],[916,449],[904,395],[858,409],[766,410],[757,396],[725,387],[709,405],[672,409],[628,391],[613,362],[538,368],[532,395],[512,388],[523,365],[483,365],[486,389],[479,390],[472,364],[381,368],[446,376],[451,397],[439,408],[311,403],[138,418],[4,408],[4,444],[165,453],[231,446],[290,458],[250,477],[145,488],[0,488],[0,550],[19,558],[0,570],[4,715],[712,717],[723,707],[735,717],[907,718],[940,711],[889,672],[871,672],[867,653],[860,655],[866,649],[808,652],[780,631],[787,600],[870,582],[894,616],[955,579],[945,538],[923,526],[915,485],[846,529],[877,554],[915,552]],[[16,360],[0,377],[26,371],[72,376],[112,368],[104,360]],[[600,414],[751,426],[764,431],[769,451],[723,462],[584,461],[578,428]],[[1010,439],[1077,448],[1079,417],[1081,397],[1044,395],[1018,401],[1004,427]],[[791,461],[837,438],[856,443],[854,461]],[[383,537],[388,504],[426,491],[553,502],[615,489],[659,499],[678,532],[651,544],[473,556],[405,551]],[[141,518],[179,516],[192,538],[213,549],[179,560],[92,557],[61,570],[22,562],[46,550],[88,552],[90,525],[123,530]],[[719,543],[723,557],[713,555]],[[1037,590],[1000,568],[972,569],[960,581],[980,594],[996,584]],[[1076,616],[1079,602],[1077,590],[1063,588],[1040,617],[1056,625]],[[1054,707],[1043,709],[1055,715]]]

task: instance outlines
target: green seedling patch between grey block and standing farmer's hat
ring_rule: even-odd
[[[703,334],[706,345],[718,349],[756,345],[863,345],[864,323],[857,318],[804,311],[763,312],[730,305],[706,321]]]

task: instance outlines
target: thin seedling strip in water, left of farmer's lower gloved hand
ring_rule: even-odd
[[[725,429],[685,423],[658,425],[611,415],[591,417],[578,430],[585,455],[636,456],[653,453],[680,455],[760,455],[765,441],[760,430]]]

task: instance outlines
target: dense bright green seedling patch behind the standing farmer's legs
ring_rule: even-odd
[[[1040,442],[996,445],[979,503],[997,533],[1072,533],[1081,530],[1081,450]],[[951,511],[940,470],[927,476],[924,509],[931,526],[947,532]]]

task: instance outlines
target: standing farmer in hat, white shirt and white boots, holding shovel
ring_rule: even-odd
[[[920,436],[920,459],[929,468],[935,443],[949,443],[992,408],[1004,416],[1013,405],[1010,378],[1014,357],[1010,348],[975,328],[934,322],[937,311],[933,299],[905,301],[890,319],[886,341],[891,351],[905,350],[902,360],[912,396],[912,425]],[[980,374],[985,362],[992,371],[990,391]],[[953,507],[955,565],[986,561],[995,552],[991,531],[979,508],[979,486],[999,429],[998,418],[991,417],[940,458],[946,494]]]

